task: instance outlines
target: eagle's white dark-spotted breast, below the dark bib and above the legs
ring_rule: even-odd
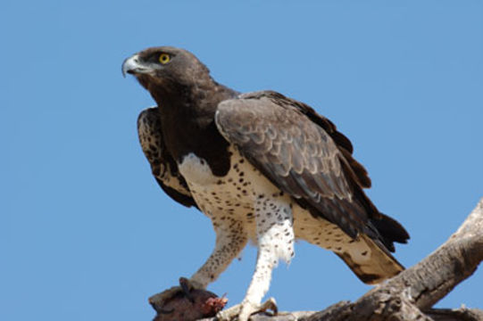
[[[218,226],[241,223],[249,239],[256,242],[257,228],[268,228],[268,222],[275,224],[283,209],[276,202],[290,202],[290,199],[254,169],[233,147],[229,148],[230,168],[224,177],[216,177],[206,161],[194,153],[187,154],[179,162],[179,172],[196,204],[206,216]],[[257,214],[256,206],[260,206]],[[255,215],[266,216],[255,223]],[[271,219],[271,216],[274,218]]]

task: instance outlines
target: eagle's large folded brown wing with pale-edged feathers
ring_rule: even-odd
[[[256,169],[312,215],[328,219],[352,237],[360,232],[378,237],[368,226],[368,211],[354,195],[358,175],[367,173],[359,163],[363,172],[356,173],[346,161],[344,153],[351,155],[352,144],[328,119],[318,116],[338,134],[330,136],[312,121],[307,108],[318,116],[278,93],[258,92],[220,103],[215,121]],[[370,185],[369,177],[364,183]]]

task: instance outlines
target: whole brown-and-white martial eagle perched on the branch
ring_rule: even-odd
[[[246,321],[268,306],[271,271],[294,257],[297,239],[334,251],[366,284],[404,269],[390,252],[409,235],[363,192],[371,179],[329,119],[273,91],[222,86],[195,55],[171,46],[134,54],[122,72],[157,104],[137,119],[157,182],[212,220],[214,250],[190,284],[204,289],[249,240],[258,247],[245,299],[221,319]]]

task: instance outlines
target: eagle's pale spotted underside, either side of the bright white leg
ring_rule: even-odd
[[[239,152],[233,148],[229,152],[230,169],[224,177],[214,176],[209,164],[194,153],[187,154],[179,163],[179,172],[187,180],[200,210],[212,219],[215,229],[236,220],[243,223],[248,237],[256,242],[255,202],[259,202],[261,194],[279,196],[283,193],[262,177]],[[292,207],[296,239],[335,252],[344,252],[354,247],[356,242],[337,225],[323,218],[314,218],[288,196],[286,200]]]

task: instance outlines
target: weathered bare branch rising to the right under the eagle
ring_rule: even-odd
[[[457,284],[471,276],[482,260],[483,198],[446,243],[412,268],[365,293],[359,300],[341,301],[320,312],[292,312],[276,317],[257,315],[252,320],[483,321],[483,310],[479,309],[431,309]]]

